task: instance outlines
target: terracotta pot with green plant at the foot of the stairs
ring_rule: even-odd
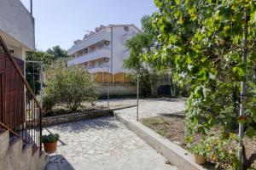
[[[57,142],[60,139],[60,135],[55,133],[50,133],[49,135],[42,136],[42,143],[44,144],[44,150],[46,153],[50,154],[55,152],[57,148]]]

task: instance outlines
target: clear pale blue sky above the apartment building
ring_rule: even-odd
[[[30,0],[21,0],[29,8]],[[36,48],[70,48],[86,30],[109,24],[135,24],[141,27],[144,14],[157,8],[154,0],[34,0]]]

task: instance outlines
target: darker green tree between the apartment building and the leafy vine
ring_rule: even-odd
[[[134,74],[140,75],[141,92],[144,96],[154,96],[156,90],[157,75],[152,65],[143,60],[143,55],[152,53],[152,48],[156,45],[156,37],[151,24],[151,17],[143,16],[142,31],[137,33],[126,42],[126,47],[129,49],[129,58],[125,59],[124,66],[127,69],[135,71]]]

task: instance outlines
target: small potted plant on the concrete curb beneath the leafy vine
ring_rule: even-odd
[[[191,150],[194,153],[194,159],[196,164],[206,164],[207,150],[204,144],[195,144],[191,147]]]

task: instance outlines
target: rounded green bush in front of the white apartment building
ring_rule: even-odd
[[[93,104],[98,96],[95,77],[83,66],[67,67],[65,59],[48,66],[44,84],[44,94],[50,105],[67,104],[72,111],[77,111],[83,101]]]

